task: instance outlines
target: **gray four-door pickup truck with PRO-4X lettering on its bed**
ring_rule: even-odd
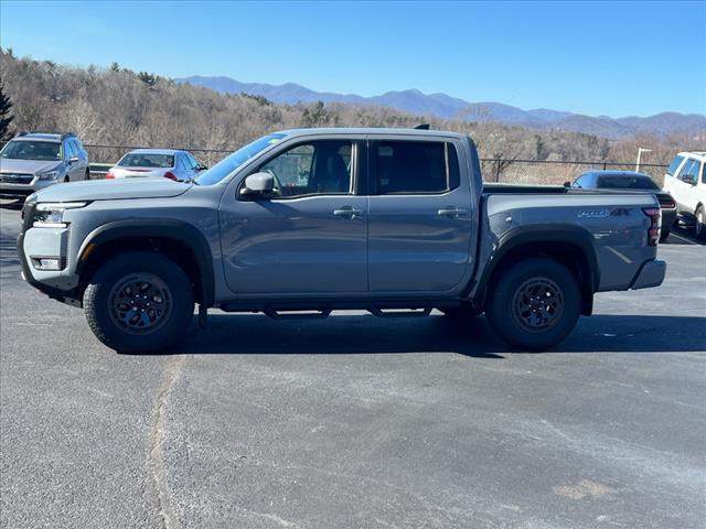
[[[666,269],[654,195],[484,185],[473,141],[429,130],[276,132],[191,183],[57,185],[22,214],[24,279],[124,352],[173,346],[195,303],[201,326],[210,307],[485,313],[541,350],[593,293],[656,287]]]

